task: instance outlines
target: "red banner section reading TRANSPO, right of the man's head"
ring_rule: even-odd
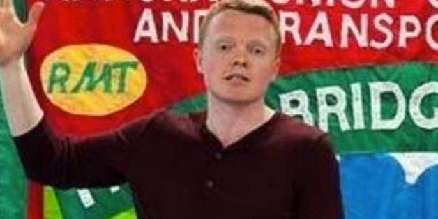
[[[283,72],[438,61],[435,0],[282,1]],[[295,3],[292,3],[295,2]]]

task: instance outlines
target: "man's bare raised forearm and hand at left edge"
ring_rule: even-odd
[[[29,132],[43,117],[23,61],[43,8],[44,3],[34,3],[29,20],[22,24],[12,0],[0,0],[0,87],[13,136]]]

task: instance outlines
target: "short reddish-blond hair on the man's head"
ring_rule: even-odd
[[[204,17],[199,29],[199,47],[204,45],[207,28],[213,17],[224,10],[237,10],[252,15],[260,15],[268,20],[275,31],[275,43],[277,50],[280,49],[281,35],[280,25],[275,10],[265,0],[218,0],[211,6],[209,13]]]

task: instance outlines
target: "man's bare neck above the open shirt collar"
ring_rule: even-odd
[[[263,100],[230,104],[209,97],[206,126],[227,147],[262,126],[275,114]]]

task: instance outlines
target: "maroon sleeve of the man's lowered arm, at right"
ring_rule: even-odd
[[[341,219],[342,195],[338,162],[326,135],[315,144],[303,147],[301,185],[297,215],[299,219]]]

